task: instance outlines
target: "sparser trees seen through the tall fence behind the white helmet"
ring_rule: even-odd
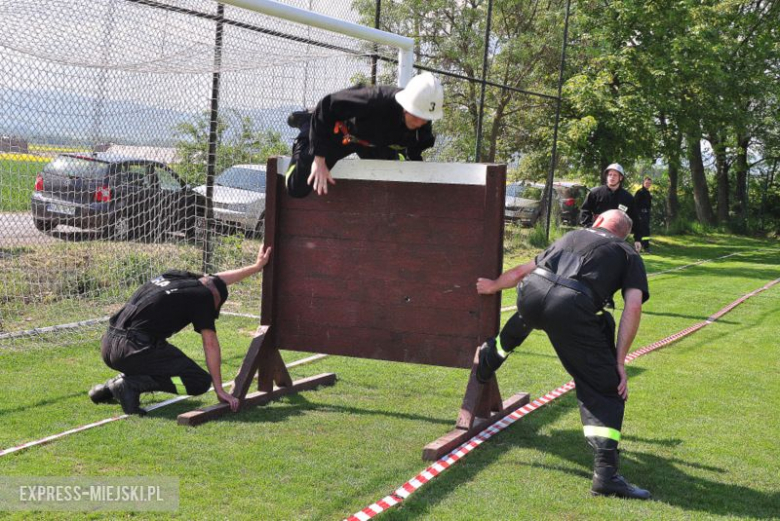
[[[376,2],[355,0],[361,21],[373,25]],[[515,89],[554,95],[563,38],[564,0],[494,0],[488,48],[488,80]],[[480,79],[488,0],[406,0],[382,3],[381,29],[415,38],[416,62]],[[387,68],[385,70],[388,70]],[[385,76],[385,80],[388,77]],[[475,81],[442,78],[445,117],[436,123],[440,159],[473,160],[481,88]],[[488,87],[481,158],[509,162],[536,151],[535,111],[551,121],[549,101]],[[549,125],[549,123],[548,123]],[[551,142],[543,140],[549,165]],[[544,167],[541,172],[546,171]],[[536,172],[532,172],[536,173]]]

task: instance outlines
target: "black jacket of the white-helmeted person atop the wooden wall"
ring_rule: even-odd
[[[357,86],[322,98],[312,117],[310,141],[315,156],[328,157],[343,150],[343,134],[334,133],[337,121],[344,122],[349,133],[369,142],[367,156],[376,159],[422,160],[422,151],[431,148],[435,138],[430,122],[417,130],[404,123],[404,109],[395,100],[398,87]],[[363,154],[360,154],[363,157]]]

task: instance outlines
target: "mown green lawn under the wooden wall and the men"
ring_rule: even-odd
[[[517,251],[507,266],[531,258]],[[635,348],[701,322],[780,277],[777,242],[711,235],[659,238]],[[504,305],[514,302],[505,292]],[[622,302],[618,302],[618,313]],[[504,313],[503,319],[510,316]],[[224,317],[223,375],[235,374],[256,324]],[[591,455],[573,393],[477,448],[381,514],[386,520],[778,519],[780,517],[780,285],[714,324],[629,366],[623,473],[652,502],[591,498]],[[203,362],[199,336],[173,342]],[[306,346],[316,352],[316,346]],[[285,361],[307,356],[283,353]],[[96,334],[0,352],[0,449],[110,417],[86,390],[112,376]],[[197,428],[176,415],[213,394],[0,458],[2,476],[173,476],[177,519],[340,520],[381,499],[427,464],[422,447],[449,431],[465,370],[328,357],[294,378],[335,372],[333,387],[287,397]],[[544,394],[569,380],[534,333],[498,375],[503,393]],[[168,398],[158,394],[145,403]],[[7,513],[29,519],[29,512]],[[3,514],[0,513],[0,517]],[[36,514],[98,519],[99,514]],[[162,519],[170,514],[111,517]]]

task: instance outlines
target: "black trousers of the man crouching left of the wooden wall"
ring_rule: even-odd
[[[176,394],[172,377],[181,379],[187,394],[203,394],[211,387],[211,376],[176,346],[155,340],[141,332],[109,328],[101,343],[103,361],[126,376],[151,376],[160,390]]]

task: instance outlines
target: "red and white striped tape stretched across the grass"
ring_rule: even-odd
[[[750,297],[753,297],[758,293],[761,293],[762,291],[765,291],[778,283],[780,283],[780,279],[776,279],[768,284],[765,284],[761,288],[738,298],[737,300],[735,300],[725,308],[721,309],[720,311],[718,311],[717,313],[709,317],[707,320],[703,322],[699,322],[698,324],[694,324],[662,340],[653,342],[648,346],[632,351],[626,357],[626,363],[633,362],[640,356],[646,355],[647,353],[655,351],[656,349],[660,349],[661,347],[672,344],[683,337],[695,333],[699,329],[709,324],[712,324],[715,320],[722,317],[723,315],[725,315],[726,313],[728,313],[729,311],[737,307],[739,304],[745,302]],[[459,447],[456,447],[454,450],[452,450],[452,452],[442,457],[436,463],[426,468],[425,470],[417,474],[415,477],[413,477],[412,479],[410,479],[409,481],[407,481],[406,483],[398,487],[395,490],[395,492],[391,493],[388,496],[383,497],[376,503],[373,503],[367,506],[366,508],[354,513],[353,515],[348,517],[346,521],[367,521],[368,519],[375,517],[377,514],[380,514],[402,503],[406,498],[408,498],[414,492],[419,490],[424,484],[428,483],[436,476],[438,476],[439,474],[441,474],[442,472],[450,468],[452,465],[460,461],[464,456],[469,454],[471,451],[473,451],[475,448],[480,446],[486,440],[490,439],[495,434],[506,429],[507,427],[515,423],[523,416],[526,416],[532,413],[533,411],[539,409],[540,407],[547,405],[551,401],[557,399],[560,396],[563,396],[564,394],[571,391],[572,389],[574,389],[574,382],[569,381],[563,384],[562,386],[558,387],[557,389],[550,391],[544,396],[537,398],[533,402],[524,405],[523,407],[520,407],[509,416],[506,416],[502,420],[494,423],[493,425],[490,425],[485,430],[483,430],[482,432],[480,432],[479,434],[477,434],[467,442],[463,443]]]

